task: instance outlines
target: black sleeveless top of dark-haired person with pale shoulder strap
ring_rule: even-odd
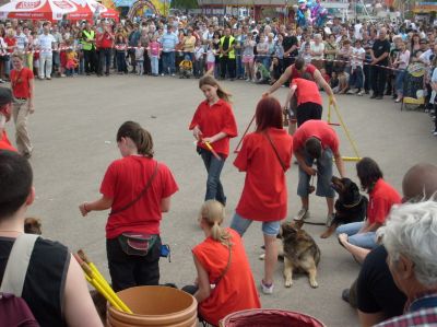
[[[0,283],[14,238],[0,237]],[[42,327],[67,326],[63,318],[63,291],[70,253],[60,243],[39,237],[28,264],[22,297]]]

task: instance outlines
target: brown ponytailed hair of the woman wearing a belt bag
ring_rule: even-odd
[[[121,138],[129,138],[137,147],[138,153],[153,157],[153,139],[151,133],[141,127],[135,121],[123,122],[117,132],[117,142],[121,141]]]

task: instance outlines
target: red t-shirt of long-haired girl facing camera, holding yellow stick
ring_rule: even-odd
[[[226,138],[211,143],[211,145],[215,152],[224,156],[229,154],[229,139],[235,138],[238,132],[234,113],[227,102],[218,100],[212,106],[208,101],[201,102],[192,117],[189,129],[191,130],[196,126],[199,126],[203,138],[213,137],[221,131],[227,133]],[[208,150],[206,145],[201,142],[198,142],[198,145]]]

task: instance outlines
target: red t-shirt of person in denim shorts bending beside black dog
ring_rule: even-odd
[[[305,142],[315,137],[320,140],[323,149],[331,149],[332,152],[339,153],[340,141],[335,131],[323,120],[307,120],[296,130],[293,136],[294,152],[303,150]]]

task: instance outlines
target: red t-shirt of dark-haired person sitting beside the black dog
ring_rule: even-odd
[[[389,214],[391,207],[402,202],[399,192],[382,178],[375,184],[369,192],[367,205],[367,219],[370,224],[377,222],[382,224]]]

